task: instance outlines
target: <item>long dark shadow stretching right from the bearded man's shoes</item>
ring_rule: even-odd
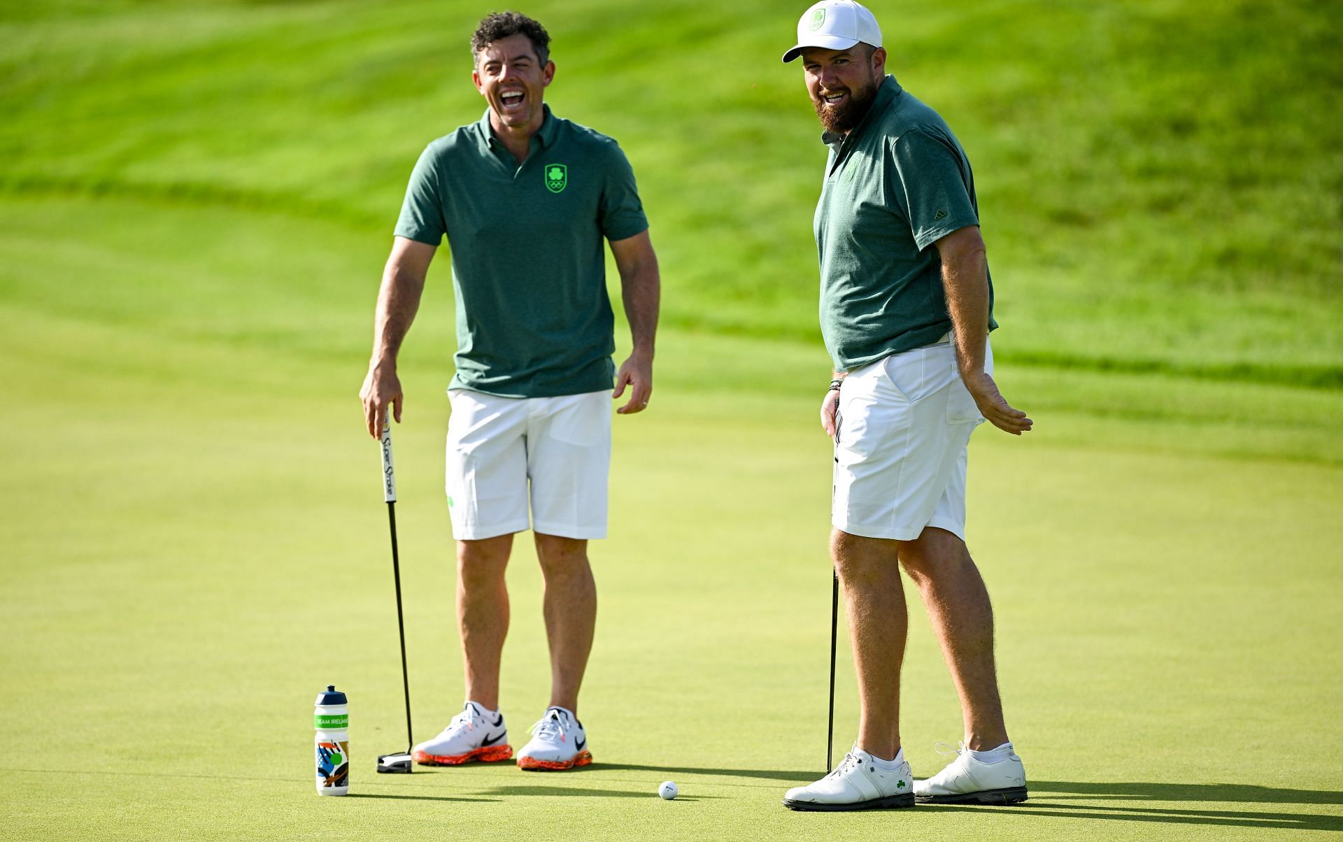
[[[1343,816],[1279,810],[1202,810],[1179,806],[1140,807],[1123,803],[1093,806],[1057,802],[1210,802],[1232,804],[1343,804],[1343,792],[1328,790],[1279,790],[1233,783],[1072,783],[1038,780],[1030,783],[1031,798],[1021,807],[964,804],[920,804],[919,810],[1022,814],[1070,819],[1116,819],[1158,825],[1206,825],[1214,827],[1273,827],[1280,830],[1343,831]]]

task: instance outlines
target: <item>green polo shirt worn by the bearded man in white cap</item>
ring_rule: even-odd
[[[936,342],[951,330],[933,243],[979,224],[970,160],[945,121],[886,77],[830,145],[817,204],[821,333],[835,371]],[[988,282],[988,325],[994,287]]]

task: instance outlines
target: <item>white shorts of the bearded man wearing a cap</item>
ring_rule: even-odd
[[[994,356],[984,348],[984,371]],[[830,522],[909,541],[927,526],[966,540],[966,446],[983,423],[950,341],[855,368],[839,389]]]

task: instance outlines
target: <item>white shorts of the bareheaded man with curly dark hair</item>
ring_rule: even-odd
[[[447,508],[453,537],[530,528],[604,539],[611,466],[611,392],[498,397],[450,389]]]

